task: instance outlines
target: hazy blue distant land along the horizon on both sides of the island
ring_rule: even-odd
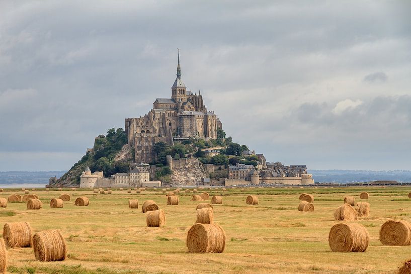
[[[60,171],[0,171],[0,184],[48,184],[49,178],[59,178],[67,170]],[[314,181],[318,182],[365,182],[374,180],[396,180],[399,182],[411,182],[411,170],[345,170],[310,169]]]

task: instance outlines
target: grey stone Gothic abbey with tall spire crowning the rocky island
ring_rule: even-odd
[[[193,94],[181,79],[180,54],[177,78],[171,87],[171,98],[157,98],[148,114],[126,118],[128,145],[134,148],[135,162],[154,160],[152,146],[159,141],[173,145],[189,138],[216,139],[222,124],[214,112],[207,111],[201,92]]]

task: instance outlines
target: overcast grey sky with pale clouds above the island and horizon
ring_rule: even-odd
[[[411,1],[0,1],[0,171],[69,169],[187,88],[309,169],[411,169]]]

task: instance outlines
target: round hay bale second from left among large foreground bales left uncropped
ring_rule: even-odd
[[[34,234],[33,248],[39,261],[61,261],[67,256],[67,245],[60,230],[45,230]]]

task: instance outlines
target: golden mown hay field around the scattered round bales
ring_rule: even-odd
[[[370,194],[360,200],[361,192]],[[202,191],[199,191],[202,192]],[[40,210],[27,210],[25,203],[8,203],[0,209],[0,225],[30,222],[33,233],[60,229],[67,242],[65,261],[35,260],[33,248],[8,249],[11,273],[393,273],[411,258],[411,246],[383,246],[379,229],[388,219],[411,221],[411,188],[283,188],[228,189],[207,191],[221,195],[214,206],[214,222],[225,230],[226,247],[220,254],[192,254],[185,244],[187,231],[196,221],[192,193],[182,191],[179,205],[167,206],[167,197],[147,190],[136,194],[113,191],[93,194],[92,190],[64,190],[35,193],[43,202]],[[33,193],[30,191],[30,193]],[[64,208],[51,209],[49,202],[61,194],[71,195]],[[314,196],[314,212],[299,212],[299,195]],[[6,190],[0,197],[23,194]],[[246,205],[245,198],[258,195],[258,205]],[[88,207],[76,207],[77,197],[86,196]],[[328,233],[335,209],[345,196],[370,203],[369,217],[360,218],[371,238],[364,253],[332,252]],[[129,209],[128,200],[138,199],[139,208]],[[147,227],[141,205],[155,201],[166,214],[164,227]]]

